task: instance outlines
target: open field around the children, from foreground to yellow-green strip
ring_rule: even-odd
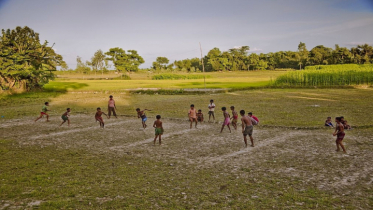
[[[213,73],[207,88],[265,86],[286,72]],[[71,75],[70,75],[71,76]],[[0,95],[3,209],[371,209],[373,89],[255,89],[194,95],[130,94],[135,88],[203,88],[203,80],[86,80],[66,76],[48,91]],[[76,75],[75,75],[76,76]],[[68,78],[69,77],[69,78]],[[118,119],[99,129],[96,107],[114,95]],[[189,129],[190,104],[217,105],[216,123]],[[33,120],[45,101],[51,122]],[[220,131],[220,108],[261,120],[256,147]],[[58,125],[70,107],[71,127]],[[135,108],[161,114],[162,146],[141,129]],[[347,154],[335,152],[327,116],[343,115]]]

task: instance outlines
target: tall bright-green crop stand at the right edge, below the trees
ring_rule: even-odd
[[[306,69],[281,75],[277,77],[274,85],[289,87],[373,85],[371,64],[312,66]]]

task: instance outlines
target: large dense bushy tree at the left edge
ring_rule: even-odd
[[[53,46],[52,46],[53,47]],[[30,90],[54,78],[52,71],[63,62],[48,41],[25,26],[2,30],[0,36],[0,88]]]

